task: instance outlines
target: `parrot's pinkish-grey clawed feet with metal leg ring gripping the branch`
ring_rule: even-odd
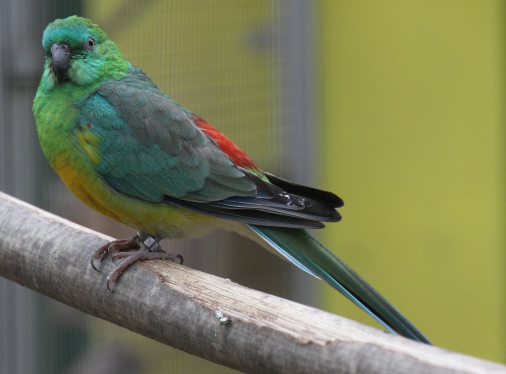
[[[113,261],[122,259],[118,266],[107,276],[107,289],[112,293],[111,284],[119,278],[123,271],[139,260],[159,259],[183,263],[181,255],[163,252],[160,244],[158,244],[160,240],[161,237],[150,236],[140,231],[137,235],[128,239],[110,241],[93,252],[90,260],[91,265],[93,269],[99,271],[95,267],[95,260],[102,261],[107,254],[111,256]]]

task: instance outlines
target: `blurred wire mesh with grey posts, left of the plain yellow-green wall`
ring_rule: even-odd
[[[37,144],[31,102],[43,67],[41,34],[48,22],[72,14],[100,25],[128,61],[168,96],[213,123],[262,169],[289,178],[297,165],[299,182],[312,174],[310,162],[303,161],[311,158],[310,102],[304,96],[310,80],[306,23],[311,12],[304,1],[289,7],[268,0],[0,4],[2,190],[114,237],[135,233],[79,202]],[[162,244],[182,254],[187,266],[312,302],[306,275],[294,277],[288,264],[238,236],[216,233]],[[93,248],[83,250],[91,254]],[[302,293],[293,292],[294,279]],[[117,286],[120,292],[120,281]],[[5,280],[0,281],[0,323],[0,372],[228,370]]]

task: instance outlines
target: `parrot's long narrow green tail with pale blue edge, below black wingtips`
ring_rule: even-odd
[[[287,260],[326,281],[393,333],[431,344],[387,299],[306,230],[248,226]]]

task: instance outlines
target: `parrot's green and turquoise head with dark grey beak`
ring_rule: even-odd
[[[86,18],[71,16],[51,22],[42,39],[46,50],[46,89],[70,82],[90,86],[118,78],[128,63],[104,31]]]

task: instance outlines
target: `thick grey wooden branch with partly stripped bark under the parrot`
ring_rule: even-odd
[[[207,360],[262,373],[506,372],[166,261],[132,266],[110,294],[110,259],[90,266],[110,239],[0,192],[0,275]]]

